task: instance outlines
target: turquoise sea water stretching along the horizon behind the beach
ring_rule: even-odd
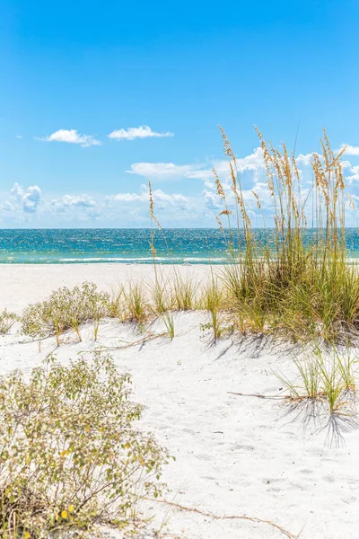
[[[227,246],[219,229],[178,228],[155,233],[162,263],[225,263]],[[273,231],[255,229],[259,245],[273,243]],[[305,231],[306,241],[311,230]],[[165,238],[165,239],[164,239]],[[0,230],[0,263],[70,264],[81,262],[153,263],[148,228]],[[242,238],[240,238],[243,243]],[[237,234],[233,242],[239,243]],[[167,243],[167,245],[166,245]],[[348,256],[359,258],[359,234],[346,229]]]

